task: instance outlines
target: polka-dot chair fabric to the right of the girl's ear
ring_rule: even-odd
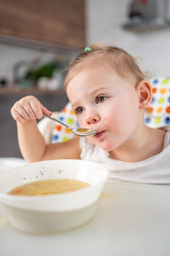
[[[144,114],[144,122],[152,128],[170,125],[170,77],[150,79],[152,101]]]

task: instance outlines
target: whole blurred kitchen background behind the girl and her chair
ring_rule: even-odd
[[[10,108],[34,95],[67,102],[67,64],[94,42],[141,57],[150,77],[170,75],[169,0],[0,0],[0,157],[21,157]]]

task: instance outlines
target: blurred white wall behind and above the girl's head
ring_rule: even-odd
[[[128,0],[88,0],[87,45],[106,42],[143,59],[150,76],[170,75],[170,28],[136,34],[122,29],[127,21]]]

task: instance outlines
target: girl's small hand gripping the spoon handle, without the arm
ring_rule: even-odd
[[[43,113],[52,115],[52,112],[43,107],[35,96],[25,96],[15,102],[11,108],[13,118],[20,123],[26,123],[32,119],[42,119]]]

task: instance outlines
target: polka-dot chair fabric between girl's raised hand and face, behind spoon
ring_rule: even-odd
[[[76,114],[71,110],[69,102],[59,113],[58,119],[71,127],[78,127]],[[52,143],[65,142],[74,137],[74,134],[64,125],[55,125],[52,132]]]

